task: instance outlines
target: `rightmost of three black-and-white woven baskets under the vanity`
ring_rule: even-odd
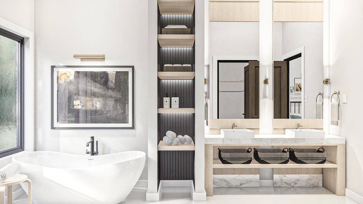
[[[319,149],[291,149],[290,160],[298,164],[323,164],[326,162],[324,148]]]

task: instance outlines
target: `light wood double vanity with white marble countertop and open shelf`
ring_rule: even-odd
[[[222,164],[218,148],[320,148],[327,154],[324,164]],[[275,174],[321,174],[323,187],[336,195],[345,195],[345,138],[326,135],[325,138],[293,138],[288,135],[255,135],[254,138],[224,138],[221,135],[205,135],[205,191],[213,196],[214,175],[258,175],[260,168],[273,168]]]

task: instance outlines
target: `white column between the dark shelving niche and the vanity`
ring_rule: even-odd
[[[206,200],[204,189],[204,1],[195,1],[195,160],[194,200]]]

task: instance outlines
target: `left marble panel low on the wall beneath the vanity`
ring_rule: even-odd
[[[213,187],[260,187],[260,175],[213,175]]]

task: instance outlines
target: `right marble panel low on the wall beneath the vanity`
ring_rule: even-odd
[[[322,187],[323,175],[299,174],[299,175],[273,175],[274,187]]]

